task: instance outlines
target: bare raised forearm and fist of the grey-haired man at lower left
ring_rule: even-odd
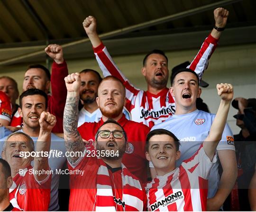
[[[49,152],[51,146],[51,132],[56,124],[56,117],[49,112],[42,112],[39,119],[40,132],[37,140],[36,152]],[[50,170],[48,157],[39,154],[34,158],[34,170]],[[43,181],[48,174],[35,174],[37,181]]]

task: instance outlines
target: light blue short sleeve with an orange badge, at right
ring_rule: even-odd
[[[221,140],[217,146],[217,151],[219,150],[235,151],[234,136],[228,124],[225,125]]]

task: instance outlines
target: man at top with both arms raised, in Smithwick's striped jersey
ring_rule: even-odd
[[[200,51],[188,68],[196,72],[201,79],[208,67],[208,60],[217,46],[221,31],[225,29],[229,11],[224,8],[214,10],[215,26],[203,42]],[[91,40],[94,54],[104,76],[116,76],[126,87],[126,108],[130,111],[132,120],[153,127],[168,119],[175,113],[175,102],[166,87],[169,70],[165,53],[154,50],[146,54],[141,72],[147,82],[147,91],[135,88],[118,69],[107,48],[101,42],[96,32],[96,20],[89,16],[83,22],[86,34]]]

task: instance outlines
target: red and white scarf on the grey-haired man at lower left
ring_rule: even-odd
[[[32,169],[32,166],[29,165],[27,168],[25,168],[22,171],[22,174],[20,175],[19,173],[17,173],[14,178],[12,178],[12,185],[9,188],[9,199],[10,199],[10,203],[13,205],[14,208],[18,208],[20,209],[20,207],[18,206],[18,202],[17,202],[17,194],[18,194],[18,190],[20,187],[20,183],[22,182],[25,174],[27,173],[27,170]]]

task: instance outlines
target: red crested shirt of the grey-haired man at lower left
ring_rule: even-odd
[[[49,174],[44,181],[37,182],[34,174],[30,173],[31,170],[33,168],[27,170],[24,178],[17,185],[18,189],[10,193],[10,200],[14,195],[23,211],[48,211],[52,176]]]

